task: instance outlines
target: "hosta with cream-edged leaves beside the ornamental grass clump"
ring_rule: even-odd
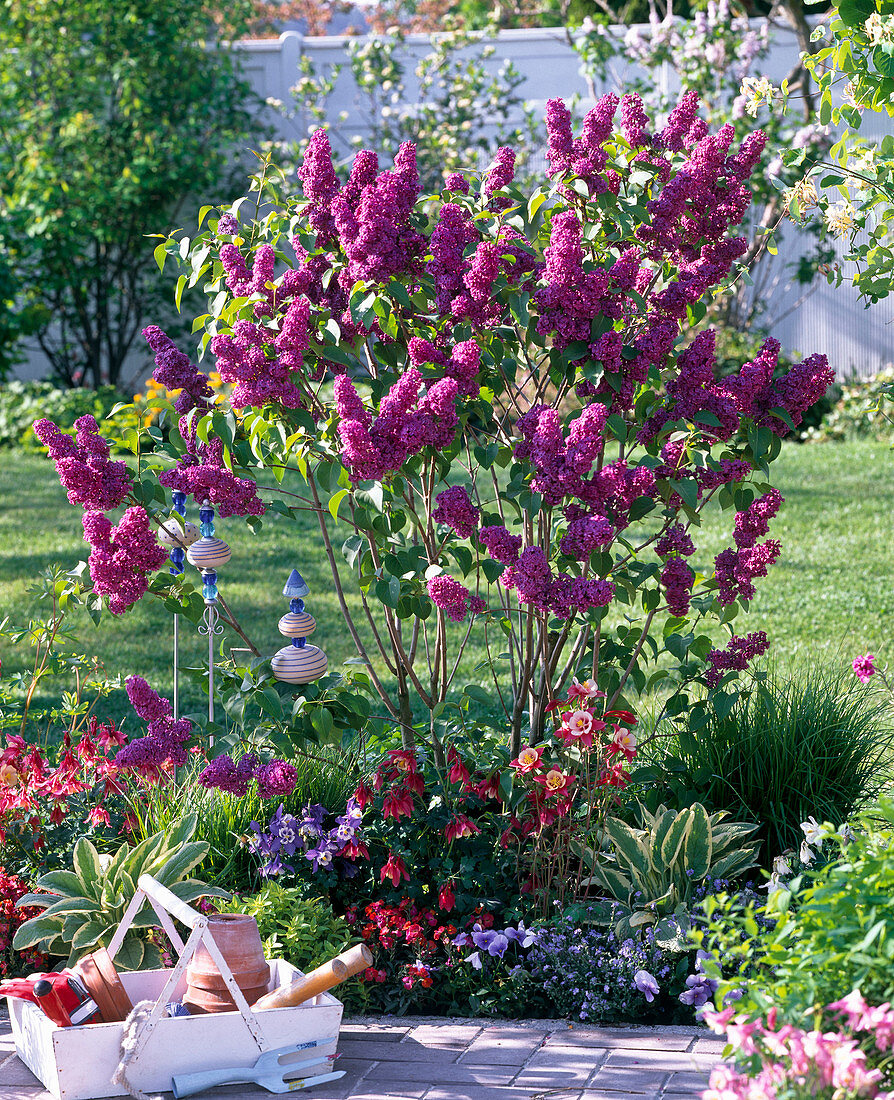
[[[694,889],[705,879],[737,879],[753,867],[758,847],[744,843],[757,826],[708,814],[696,802],[674,813],[640,807],[642,827],[606,817],[607,850],[580,846],[589,864],[591,884],[620,906],[616,936],[623,942],[633,930],[658,924],[656,942],[675,941],[685,931]],[[674,916],[673,922],[661,922]]]

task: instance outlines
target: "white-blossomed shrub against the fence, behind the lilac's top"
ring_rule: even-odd
[[[340,122],[328,121],[325,105],[340,69],[318,72],[305,62],[294,88],[301,132],[307,132],[309,121],[328,129],[333,145],[341,141],[344,146],[345,160],[347,151],[364,141],[386,158],[394,157],[402,142],[413,142],[423,194],[439,191],[446,173],[486,167],[498,145],[516,150],[516,176],[522,180],[537,123],[518,94],[525,78],[512,63],[504,63],[496,72],[488,67],[494,29],[483,31],[433,36],[429,52],[411,72],[413,53],[402,34],[349,42],[358,110],[369,127],[366,139],[354,135],[349,140]],[[518,118],[521,122],[512,121]],[[306,144],[306,140],[299,143],[295,154]]]

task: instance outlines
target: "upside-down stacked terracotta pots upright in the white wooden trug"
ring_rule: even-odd
[[[257,921],[244,913],[216,913],[208,919],[208,927],[245,1000],[253,1004],[266,992],[271,977]],[[235,1010],[235,1002],[203,943],[186,968],[186,980],[184,1004],[191,1013]]]

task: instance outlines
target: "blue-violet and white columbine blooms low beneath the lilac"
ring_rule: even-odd
[[[355,799],[349,799],[344,814],[335,818],[331,828],[323,822],[329,811],[309,802],[300,816],[285,813],[283,805],[271,818],[269,828],[264,832],[257,822],[251,823],[252,849],[262,859],[261,873],[265,877],[295,872],[295,866],[286,862],[297,854],[302,854],[313,873],[335,870],[344,878],[357,873],[355,861],[368,859],[369,853],[363,839],[363,810]]]

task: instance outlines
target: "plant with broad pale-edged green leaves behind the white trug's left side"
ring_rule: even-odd
[[[19,906],[37,905],[44,912],[18,930],[13,948],[37,945],[48,955],[67,956],[70,966],[97,947],[108,947],[141,875],[151,875],[187,903],[209,895],[228,898],[225,891],[186,877],[208,855],[206,842],[191,839],[196,824],[196,815],[189,814],[135,847],[122,845],[113,856],[100,856],[82,837],[75,846],[70,871],[44,875],[36,884],[46,892],[19,900]],[[157,924],[154,910],[144,905],[115,955],[118,969],[150,970],[162,965],[161,952],[147,936],[147,930]]]

